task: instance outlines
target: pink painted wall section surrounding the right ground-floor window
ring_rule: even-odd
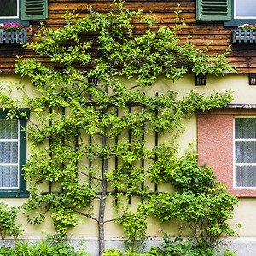
[[[233,189],[233,119],[238,115],[255,115],[255,109],[220,109],[197,113],[199,163],[212,166],[217,178],[231,195],[256,196],[255,189]]]

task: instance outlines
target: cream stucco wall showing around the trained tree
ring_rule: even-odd
[[[29,95],[32,96],[33,85],[27,78],[20,78],[19,76],[1,76],[0,80],[3,82],[10,81],[14,83],[19,83],[26,85],[26,90]],[[127,84],[132,84],[131,81],[126,81]],[[153,86],[146,89],[146,94],[152,96],[158,93],[166,93],[167,90],[175,90],[178,92],[178,97],[182,97],[187,94],[190,90],[194,90],[198,93],[204,93],[209,95],[213,90],[224,92],[224,90],[234,90],[233,96],[234,101],[232,103],[247,103],[247,104],[256,104],[256,86],[248,85],[247,75],[226,75],[224,77],[216,76],[207,76],[207,85],[206,86],[195,86],[195,76],[192,74],[185,75],[183,79],[180,79],[176,82],[165,79],[157,79]],[[20,94],[15,94],[15,96],[20,97]],[[196,148],[196,117],[192,116],[187,124],[186,131],[183,132],[182,137],[180,137],[177,143],[180,144],[180,152],[183,154],[185,148],[189,147],[189,143],[195,143]],[[165,137],[160,137],[160,140],[164,140]],[[28,145],[29,152],[29,145]],[[160,189],[166,189],[165,186],[160,184]],[[170,188],[171,189],[171,188]],[[15,199],[15,198],[2,198],[1,201],[8,203],[9,205],[20,205],[25,200],[24,199]],[[108,200],[110,201],[110,199]],[[232,224],[240,223],[242,228],[239,231],[240,236],[246,237],[255,237],[256,239],[256,199],[253,198],[242,198],[239,200],[240,205],[235,209],[235,218],[231,222]],[[135,207],[137,201],[132,201],[131,207]],[[96,207],[97,210],[97,207]],[[96,212],[96,211],[95,211]],[[106,217],[112,218],[112,209],[111,207],[107,208]],[[79,224],[79,226],[71,229],[71,232],[74,233],[74,236],[85,236],[85,237],[96,237],[97,229],[96,223],[84,219],[86,224]],[[26,218],[20,214],[19,222],[24,225],[24,236],[42,236],[41,231],[46,231],[48,233],[54,232],[53,224],[51,223],[50,218],[47,218],[43,225],[39,227],[32,226],[31,224],[26,224]],[[173,221],[172,223],[160,224],[154,219],[149,219],[148,223],[151,225],[148,226],[148,235],[159,235],[158,229],[160,227],[164,228],[166,232],[171,233],[173,236],[177,234],[177,222]],[[119,237],[123,236],[123,231],[121,227],[117,224],[106,224],[106,237]],[[90,235],[89,235],[90,234]]]

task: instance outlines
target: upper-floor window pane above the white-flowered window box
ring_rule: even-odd
[[[256,17],[255,0],[235,0],[235,18]]]

